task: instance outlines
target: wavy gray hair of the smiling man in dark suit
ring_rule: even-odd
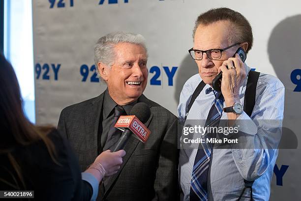
[[[115,57],[114,47],[118,43],[133,43],[141,45],[147,52],[145,38],[141,34],[120,31],[102,36],[98,39],[94,46],[94,62],[98,75],[98,62],[111,66]]]

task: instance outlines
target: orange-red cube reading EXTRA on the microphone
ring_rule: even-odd
[[[148,140],[151,133],[135,115],[120,116],[115,127],[130,129],[143,143]]]

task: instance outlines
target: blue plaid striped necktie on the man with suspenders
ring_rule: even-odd
[[[206,89],[206,94],[210,92],[214,93],[214,103],[209,111],[206,119],[205,127],[217,127],[219,119],[223,112],[224,98],[221,92],[213,90],[211,87]],[[206,135],[206,134],[205,134]],[[208,168],[211,156],[212,147],[209,144],[200,144],[194,159],[194,165],[192,169],[192,178],[190,183],[190,201],[207,201],[207,177]]]

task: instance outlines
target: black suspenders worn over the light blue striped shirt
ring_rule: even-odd
[[[251,71],[251,70],[248,73],[248,81],[247,81],[247,85],[245,88],[244,104],[243,104],[243,111],[248,116],[252,115],[252,112],[253,112],[253,109],[255,106],[256,86],[257,86],[259,74],[260,74],[259,72]],[[202,81],[194,90],[194,92],[191,96],[191,99],[189,101],[189,104],[186,108],[185,121],[186,121],[187,115],[189,113],[189,110],[191,109],[191,106],[193,105],[195,99],[199,96],[199,94],[201,93],[201,91],[203,90],[205,85],[206,84],[204,83],[204,81]],[[243,180],[243,181],[244,181],[244,188],[237,201],[241,200],[241,197],[242,197],[245,189],[247,189],[247,188],[250,188],[250,190],[251,190],[250,201],[253,201],[252,185],[253,185],[254,181],[247,181],[247,180]]]

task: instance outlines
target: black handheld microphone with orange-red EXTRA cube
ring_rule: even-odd
[[[141,142],[145,143],[151,131],[144,123],[148,121],[150,116],[151,110],[146,103],[137,103],[133,106],[130,115],[121,115],[114,127],[123,132],[113,152],[123,149],[132,133],[135,134]]]

